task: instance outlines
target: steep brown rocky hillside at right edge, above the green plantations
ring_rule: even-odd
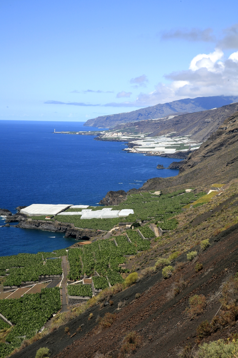
[[[189,187],[227,183],[237,178],[238,173],[238,112],[227,118],[201,147],[195,150],[179,169],[179,174],[170,178],[147,180],[138,190],[163,190],[179,185]]]

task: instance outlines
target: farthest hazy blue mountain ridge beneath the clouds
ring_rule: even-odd
[[[118,113],[89,119],[84,124],[88,127],[115,127],[118,124],[136,122],[146,119],[167,117],[169,115],[181,115],[183,113],[200,112],[215,107],[229,105],[238,101],[238,96],[212,96],[184,98],[183,100],[159,103],[158,105],[141,108],[132,112]]]

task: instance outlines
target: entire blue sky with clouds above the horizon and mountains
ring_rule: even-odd
[[[3,0],[0,119],[86,121],[238,95],[237,13],[230,0]]]

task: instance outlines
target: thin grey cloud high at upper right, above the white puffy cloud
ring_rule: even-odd
[[[187,40],[187,41],[214,42],[216,41],[216,38],[212,33],[213,30],[211,28],[207,28],[205,30],[201,30],[197,28],[193,28],[191,30],[175,29],[168,32],[162,32],[161,39],[162,40],[179,39],[179,40]]]

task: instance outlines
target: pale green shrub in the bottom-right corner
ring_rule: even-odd
[[[227,358],[231,357],[235,343],[226,344],[223,339],[199,345],[197,357],[199,358]]]

